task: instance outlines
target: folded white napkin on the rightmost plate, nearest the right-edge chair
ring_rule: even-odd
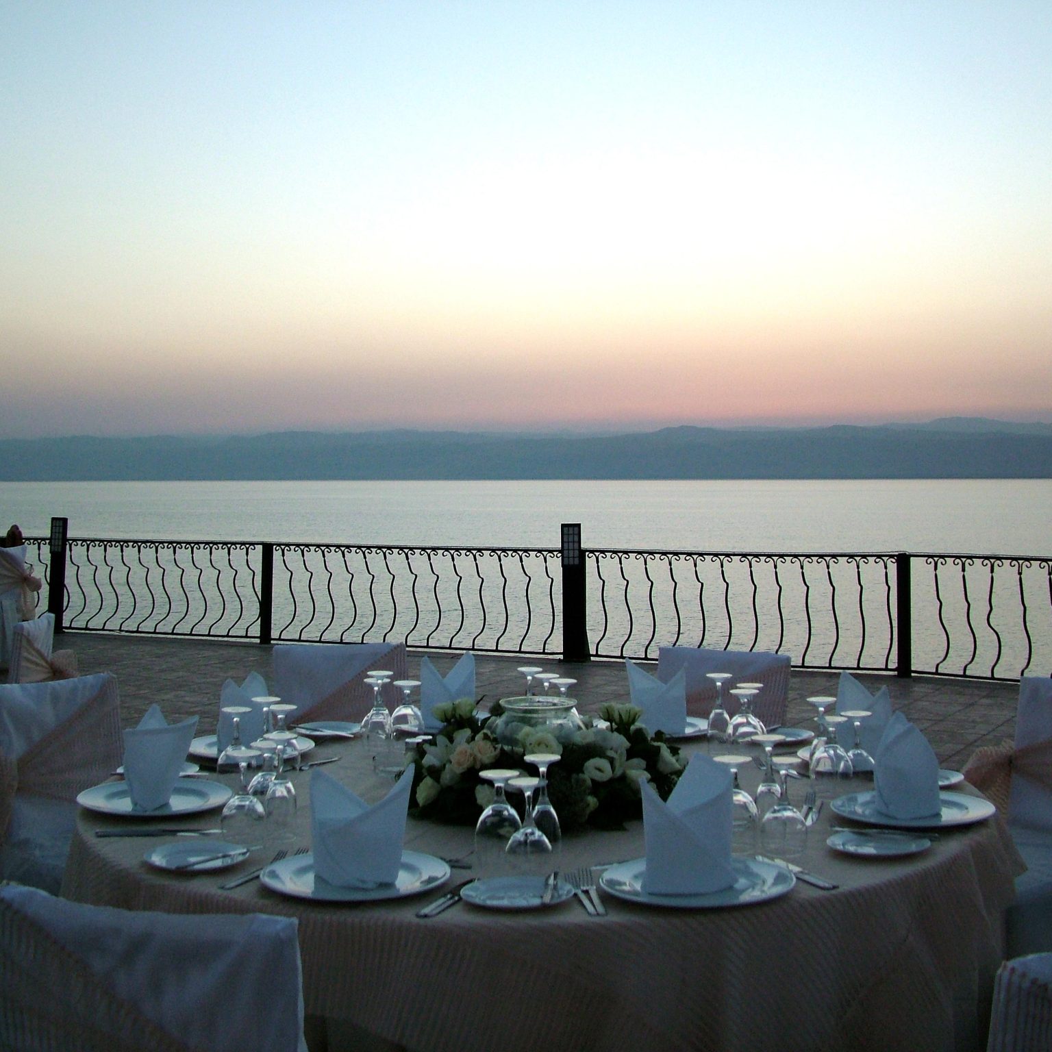
[[[902,712],[888,721],[873,756],[876,808],[892,818],[939,814],[938,760],[928,740]]]

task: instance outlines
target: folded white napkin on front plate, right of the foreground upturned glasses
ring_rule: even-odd
[[[730,865],[732,782],[725,766],[695,753],[667,802],[643,783],[644,891],[703,894],[734,883]]]

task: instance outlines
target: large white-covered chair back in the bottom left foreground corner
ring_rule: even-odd
[[[0,887],[0,1048],[305,1052],[298,924]]]

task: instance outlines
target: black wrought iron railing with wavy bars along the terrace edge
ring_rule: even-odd
[[[1047,558],[581,550],[576,526],[551,549],[29,543],[49,580],[53,560],[59,571],[53,610],[86,631],[578,660],[679,644],[812,669],[1052,672]]]

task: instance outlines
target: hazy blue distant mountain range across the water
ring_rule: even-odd
[[[1052,424],[666,427],[628,434],[281,431],[0,440],[0,480],[1048,479]]]

